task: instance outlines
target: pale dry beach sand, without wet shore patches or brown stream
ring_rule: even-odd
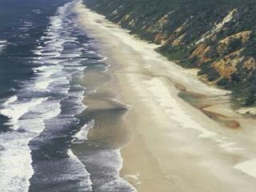
[[[244,186],[253,192],[254,178],[242,174],[240,170],[246,173],[245,169],[234,167],[255,158],[254,141],[245,142],[250,134],[241,131],[250,127],[230,110],[229,103],[219,102],[227,91],[200,82],[156,53],[154,45],[127,34],[86,9],[82,2],[78,2],[76,11],[82,27],[98,40],[102,54],[108,58],[109,73],[114,77],[108,86],[122,102],[132,106],[122,118],[126,122],[122,126],[133,132],[133,138],[126,140],[121,150],[122,178],[142,192],[243,191],[238,189]],[[177,83],[214,103],[204,110],[238,118],[242,129],[223,129],[180,98]]]

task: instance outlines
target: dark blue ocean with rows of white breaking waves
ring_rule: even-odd
[[[107,66],[74,3],[0,1],[1,192],[134,191],[119,177],[119,149],[87,138],[96,120],[83,77]]]

